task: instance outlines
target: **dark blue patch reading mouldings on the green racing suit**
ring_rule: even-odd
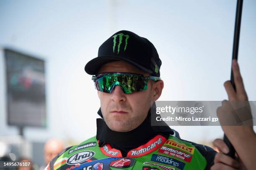
[[[156,162],[156,163],[162,163],[162,164],[174,166],[174,167],[179,168],[180,170],[183,170],[184,166],[185,166],[185,163],[182,163],[179,160],[176,160],[176,159],[173,159],[170,157],[166,157],[166,156],[162,156],[162,155],[157,155],[157,154],[152,155],[151,161]]]

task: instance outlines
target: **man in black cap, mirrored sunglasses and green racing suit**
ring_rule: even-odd
[[[161,96],[161,60],[154,45],[119,31],[85,65],[100,99],[97,135],[64,150],[48,169],[208,170],[215,151],[179,138],[166,124],[151,126]]]

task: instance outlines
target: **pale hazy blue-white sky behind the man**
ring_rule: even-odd
[[[249,100],[256,100],[256,1],[244,0],[238,62]],[[97,91],[84,65],[119,30],[148,38],[162,60],[159,100],[224,100],[230,79],[236,0],[1,0],[0,47],[46,61],[48,127],[26,128],[28,140],[82,142],[96,134]],[[0,54],[0,135],[15,135],[5,108]],[[220,127],[174,127],[192,141],[223,136]]]

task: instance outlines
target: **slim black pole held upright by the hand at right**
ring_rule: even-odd
[[[239,46],[239,37],[240,37],[242,9],[243,9],[243,0],[237,0],[232,60],[234,60],[234,59],[237,60],[238,59],[238,46]],[[231,82],[234,90],[236,91],[236,85],[235,85],[235,82],[234,82],[234,75],[233,75],[232,68],[231,68],[230,82]],[[231,158],[235,158],[236,150],[233,147],[232,143],[230,143],[230,141],[228,140],[228,138],[225,134],[224,134],[223,140],[228,145],[228,148],[229,148],[229,153],[227,155],[230,156]]]

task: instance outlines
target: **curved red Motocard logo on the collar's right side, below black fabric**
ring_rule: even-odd
[[[162,137],[161,135],[157,135],[155,138],[150,140],[145,145],[142,145],[141,147],[139,147],[136,150],[129,151],[127,156],[140,157],[140,156],[146,155],[148,153],[151,153],[154,150],[156,150],[157,148],[159,148],[159,146],[161,146],[161,144],[163,143],[163,138],[164,137]]]

